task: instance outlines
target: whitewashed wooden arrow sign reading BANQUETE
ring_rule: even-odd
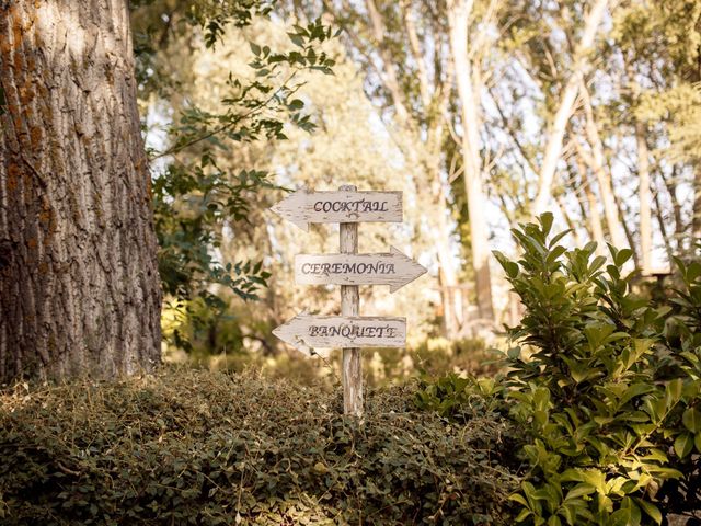
[[[406,318],[297,315],[273,331],[308,355],[314,348],[403,347]]]

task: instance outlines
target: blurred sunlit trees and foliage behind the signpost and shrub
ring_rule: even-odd
[[[631,249],[652,293],[701,237],[696,0],[139,0],[131,19],[168,361],[338,374],[271,334],[338,310],[292,274],[337,227],[269,210],[303,185],[404,193],[404,224],[361,225],[359,248],[429,273],[361,288],[363,313],[410,329],[365,354],[370,384],[494,373],[522,307],[490,254],[543,207],[568,243]]]

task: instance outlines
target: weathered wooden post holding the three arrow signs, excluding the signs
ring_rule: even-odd
[[[355,192],[354,185],[344,185],[338,190]],[[358,253],[358,224],[342,222],[340,236],[342,254]],[[341,285],[341,315],[358,316],[360,296],[357,285]],[[347,347],[343,350],[343,412],[354,416],[363,416],[363,363],[360,350]]]

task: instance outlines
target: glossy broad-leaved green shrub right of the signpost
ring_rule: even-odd
[[[552,215],[514,230],[518,262],[496,253],[526,313],[510,330],[512,414],[531,467],[513,496],[519,522],[659,524],[701,507],[701,263],[654,306],[623,276],[630,250],[566,250]]]

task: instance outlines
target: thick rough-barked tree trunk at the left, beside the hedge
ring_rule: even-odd
[[[126,0],[0,3],[0,382],[160,359]]]

